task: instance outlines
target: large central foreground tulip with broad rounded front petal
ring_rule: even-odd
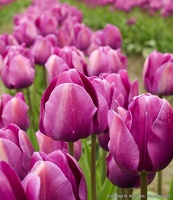
[[[40,131],[54,140],[66,142],[103,131],[107,126],[107,109],[103,105],[105,100],[102,103],[99,100],[83,74],[75,69],[61,73],[41,98]]]

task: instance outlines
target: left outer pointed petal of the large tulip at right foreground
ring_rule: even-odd
[[[108,125],[110,130],[108,148],[116,163],[121,169],[138,173],[139,149],[126,125],[112,110],[108,112]]]

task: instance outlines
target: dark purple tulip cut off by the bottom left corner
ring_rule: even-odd
[[[0,177],[0,200],[27,200],[20,179],[4,161],[0,161]]]

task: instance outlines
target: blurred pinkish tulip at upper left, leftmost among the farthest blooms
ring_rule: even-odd
[[[20,22],[14,26],[14,35],[20,44],[25,43],[27,46],[32,45],[38,35],[34,21],[28,18],[20,20]]]

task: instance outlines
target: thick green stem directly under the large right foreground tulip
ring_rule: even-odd
[[[141,200],[147,200],[147,180],[148,174],[147,172],[141,172]]]

